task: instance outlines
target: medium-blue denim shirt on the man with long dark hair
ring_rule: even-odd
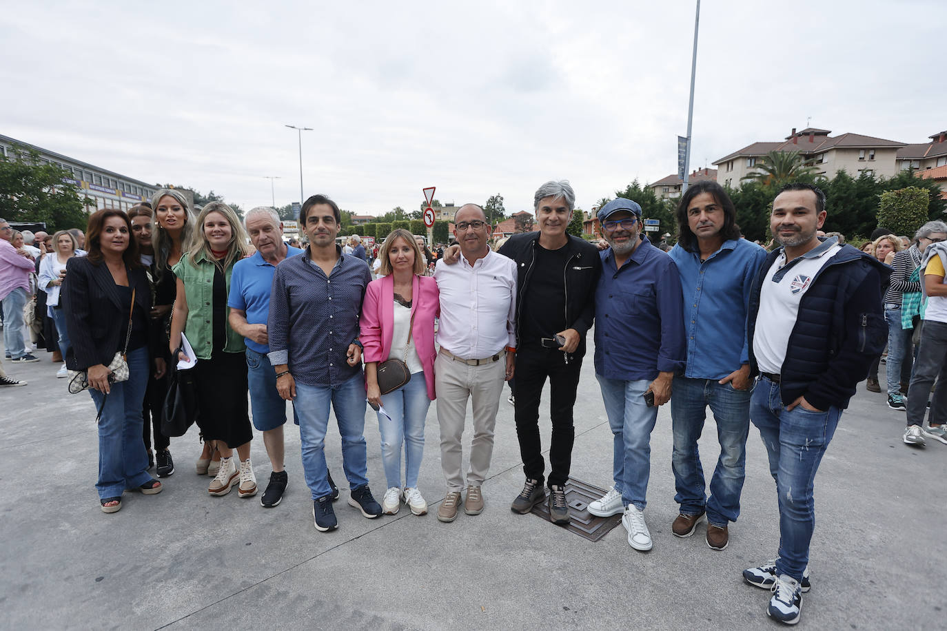
[[[680,244],[669,254],[681,274],[684,295],[684,376],[722,379],[750,361],[746,313],[766,251],[746,239],[729,239],[703,263],[699,252],[688,252]]]

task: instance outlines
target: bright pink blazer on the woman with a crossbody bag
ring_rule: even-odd
[[[384,361],[391,354],[391,329],[395,320],[395,281],[391,276],[383,276],[368,283],[365,302],[362,305],[361,333],[359,339],[365,347],[363,359]],[[411,313],[414,326],[411,340],[418,349],[420,363],[424,367],[424,381],[427,383],[428,398],[434,400],[434,319],[440,315],[440,297],[438,283],[430,276],[414,277],[411,290]],[[399,340],[398,348],[403,348],[405,340]]]

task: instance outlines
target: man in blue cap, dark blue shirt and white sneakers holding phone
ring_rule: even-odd
[[[600,253],[595,293],[595,372],[615,435],[615,484],[588,510],[599,517],[624,513],[628,544],[644,552],[652,549],[644,517],[651,432],[687,352],[681,278],[670,256],[641,235],[636,202],[608,202],[598,221],[610,247]]]

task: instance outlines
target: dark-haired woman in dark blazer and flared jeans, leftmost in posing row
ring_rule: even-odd
[[[152,294],[138,261],[132,225],[120,210],[107,208],[89,217],[88,256],[66,262],[60,299],[69,333],[66,365],[85,371],[98,420],[98,498],[102,512],[121,508],[125,489],[160,493],[161,482],[148,473],[141,442],[141,402],[148,384],[149,346],[158,338],[149,325]],[[128,363],[128,379],[115,381],[109,369],[116,353]],[[155,356],[154,374],[165,373]]]

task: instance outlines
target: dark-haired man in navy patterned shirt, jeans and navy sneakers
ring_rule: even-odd
[[[358,341],[371,272],[365,261],[342,254],[335,244],[341,221],[338,205],[323,195],[302,205],[299,222],[310,245],[277,266],[267,323],[277,390],[294,402],[299,417],[302,465],[320,532],[338,527],[323,452],[330,404],[342,435],[348,504],[368,518],[382,514],[368,489],[365,378]]]

